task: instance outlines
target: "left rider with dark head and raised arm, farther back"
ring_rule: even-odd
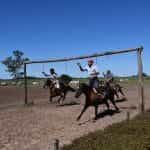
[[[54,68],[50,68],[49,71],[50,71],[50,74],[46,74],[45,72],[42,72],[42,73],[43,73],[43,75],[45,77],[47,77],[48,79],[50,79],[53,82],[55,88],[59,89],[60,88],[60,84],[59,84],[59,80],[57,79],[58,76],[57,76],[57,73],[55,72],[55,69]],[[46,86],[46,82],[45,82],[43,87],[45,88],[45,86]]]

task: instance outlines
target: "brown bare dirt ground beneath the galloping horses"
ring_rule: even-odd
[[[69,144],[77,137],[126,119],[138,113],[138,92],[136,84],[124,85],[127,101],[118,102],[121,112],[104,113],[106,107],[99,106],[100,118],[93,122],[94,108],[89,108],[81,120],[76,118],[82,110],[84,96],[67,96],[64,106],[58,106],[56,100],[50,104],[48,90],[29,88],[29,100],[33,106],[23,105],[23,89],[0,87],[0,150],[53,150],[54,139],[61,146]],[[146,108],[150,108],[150,84],[145,84]],[[71,105],[75,104],[76,105]],[[80,103],[80,104],[79,104]],[[70,105],[69,105],[70,104]]]

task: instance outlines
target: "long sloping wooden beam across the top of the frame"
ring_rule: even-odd
[[[121,49],[121,50],[113,50],[113,51],[105,51],[100,53],[94,53],[91,55],[83,55],[83,56],[76,56],[76,57],[66,57],[66,58],[60,58],[60,59],[47,59],[47,60],[32,60],[32,61],[26,61],[25,64],[35,64],[35,63],[54,63],[54,62],[65,62],[65,61],[72,61],[72,60],[79,60],[79,59],[87,59],[92,57],[100,57],[100,56],[106,56],[106,55],[114,55],[119,53],[128,53],[133,51],[142,50],[143,47],[137,47],[137,48],[129,48],[129,49]]]

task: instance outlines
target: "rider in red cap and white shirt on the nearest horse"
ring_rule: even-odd
[[[77,63],[80,68],[80,71],[87,71],[89,75],[89,86],[93,89],[93,92],[98,94],[97,89],[99,88],[98,75],[99,71],[96,65],[94,65],[93,60],[88,60],[88,64],[85,68],[82,68],[80,63]]]

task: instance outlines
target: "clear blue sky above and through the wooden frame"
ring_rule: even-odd
[[[144,46],[144,71],[150,74],[149,0],[1,0],[0,60],[15,49],[30,59],[61,58],[94,52]],[[28,73],[40,75],[53,66],[59,74],[81,74],[76,62],[31,65]],[[84,65],[85,61],[81,61]],[[136,74],[136,55],[98,58],[101,72]],[[0,65],[0,77],[7,74]]]

